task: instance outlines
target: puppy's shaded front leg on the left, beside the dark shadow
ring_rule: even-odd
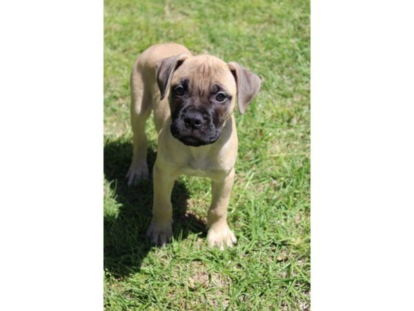
[[[176,176],[166,169],[154,165],[152,179],[154,181],[154,200],[152,205],[152,220],[147,231],[151,243],[164,246],[172,236],[172,205],[171,191]]]

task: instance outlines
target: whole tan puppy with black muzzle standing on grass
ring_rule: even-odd
[[[211,178],[208,210],[210,245],[237,243],[227,224],[227,207],[235,178],[240,113],[259,91],[262,80],[235,62],[212,55],[193,56],[179,44],[157,44],[142,53],[130,77],[133,156],[128,185],[148,178],[146,120],[154,111],[158,133],[153,169],[154,200],[147,236],[166,245],[172,235],[172,186],[181,174]]]

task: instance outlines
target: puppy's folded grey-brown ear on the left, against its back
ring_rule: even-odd
[[[177,68],[181,66],[187,58],[188,55],[183,53],[164,58],[157,64],[156,75],[159,92],[161,93],[160,100],[163,100],[166,96],[168,87],[170,86],[172,73],[174,73],[174,71],[177,70]]]

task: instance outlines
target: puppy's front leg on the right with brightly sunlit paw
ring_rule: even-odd
[[[230,199],[231,188],[235,179],[235,169],[233,168],[227,176],[213,178],[211,180],[213,202],[208,210],[207,241],[210,245],[217,245],[220,249],[224,246],[233,246],[237,239],[227,225],[227,208]]]

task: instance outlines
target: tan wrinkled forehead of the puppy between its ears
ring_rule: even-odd
[[[236,82],[228,65],[217,57],[199,55],[190,57],[177,69],[172,83],[186,81],[192,91],[211,93],[226,91],[236,94]],[[223,90],[220,90],[220,89]]]

